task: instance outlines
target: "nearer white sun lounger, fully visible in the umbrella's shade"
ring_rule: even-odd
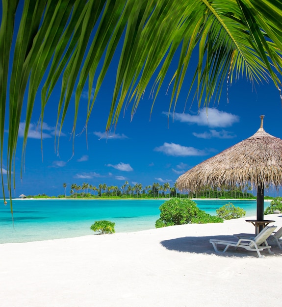
[[[276,229],[276,226],[267,226],[263,230],[261,230],[256,237],[253,239],[249,238],[241,238],[237,242],[234,241],[226,241],[226,240],[218,240],[218,239],[210,239],[209,242],[212,244],[214,250],[217,253],[225,253],[230,246],[235,247],[236,249],[238,247],[242,247],[248,251],[253,251],[257,253],[257,256],[260,258],[260,251],[263,251],[265,249],[268,250],[269,254],[273,254],[271,252],[270,248],[271,246],[268,245],[266,239],[271,235],[271,233]],[[261,246],[261,244],[264,243],[265,246]],[[223,251],[219,251],[217,249],[217,245],[226,245],[225,249]]]

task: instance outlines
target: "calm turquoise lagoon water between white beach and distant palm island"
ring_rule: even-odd
[[[0,244],[70,238],[94,234],[90,226],[97,220],[115,222],[116,232],[154,228],[159,206],[165,200],[13,200],[14,223],[9,201],[0,205]],[[256,200],[195,200],[200,209],[215,210],[231,202],[256,216]],[[268,204],[265,203],[265,207]]]

